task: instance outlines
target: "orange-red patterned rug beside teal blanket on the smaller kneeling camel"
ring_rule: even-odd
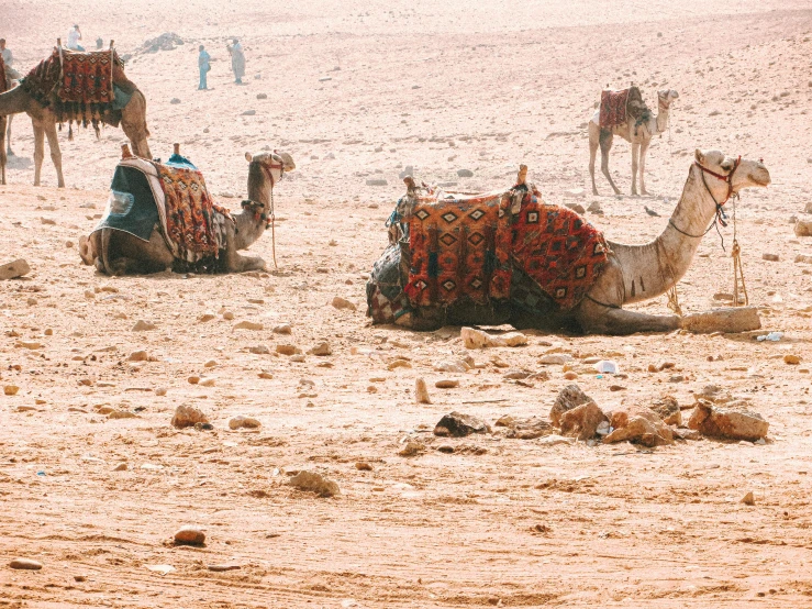
[[[216,257],[225,245],[224,220],[233,221],[231,212],[212,201],[198,169],[153,165],[165,197],[165,234],[177,246],[176,257],[187,262]]]

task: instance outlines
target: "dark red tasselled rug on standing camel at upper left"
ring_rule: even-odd
[[[115,51],[63,49],[62,62],[59,51],[54,51],[20,84],[40,103],[53,107],[60,123],[76,121],[86,126],[97,125],[105,112],[115,109],[113,85],[126,91],[134,87],[124,76],[124,63]]]

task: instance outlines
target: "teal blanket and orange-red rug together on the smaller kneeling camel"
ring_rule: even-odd
[[[225,247],[231,212],[215,204],[203,175],[186,157],[166,163],[123,158],[115,167],[108,206],[93,232],[113,229],[149,241],[158,226],[173,255],[185,263],[216,258]]]

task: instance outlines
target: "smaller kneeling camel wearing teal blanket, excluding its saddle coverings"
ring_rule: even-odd
[[[177,150],[176,144],[176,153]],[[125,151],[124,157],[127,156],[129,151]],[[241,256],[237,252],[248,248],[263,236],[272,214],[274,185],[286,171],[296,169],[293,158],[283,152],[245,153],[245,159],[248,162],[248,197],[243,201],[243,211],[232,215],[234,222],[222,222],[225,246],[220,251],[215,265],[222,273],[265,270],[263,258]],[[165,240],[159,225],[153,228],[149,241],[126,232],[101,229],[79,240],[79,255],[86,265],[96,265],[101,273],[109,275],[162,273],[177,263]]]

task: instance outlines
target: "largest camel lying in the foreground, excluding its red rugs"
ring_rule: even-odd
[[[521,184],[521,176],[520,176]],[[424,307],[408,312],[397,320],[374,319],[376,323],[394,322],[415,330],[434,330],[445,324],[502,324],[515,328],[557,330],[575,328],[583,333],[632,334],[635,332],[669,332],[687,326],[676,314],[654,315],[623,309],[624,304],[649,300],[666,294],[677,285],[688,270],[691,261],[718,211],[743,188],[766,187],[770,184],[767,168],[757,160],[726,156],[719,151],[696,151],[682,196],[663,233],[650,243],[625,245],[607,241],[609,255],[607,265],[586,297],[569,311],[558,310],[555,302],[541,290],[537,306],[531,312],[519,306],[514,297],[515,284],[511,284],[507,306],[457,302],[447,308]],[[376,290],[383,287],[392,294],[392,287],[401,285],[400,245],[390,246],[380,258],[367,284],[367,296],[371,299]],[[387,258],[387,256],[389,256]],[[513,263],[513,277],[518,275]],[[381,292],[382,294],[382,292]],[[377,298],[382,299],[381,295]],[[405,301],[401,291],[385,303],[398,309]],[[380,309],[379,309],[380,310]]]

